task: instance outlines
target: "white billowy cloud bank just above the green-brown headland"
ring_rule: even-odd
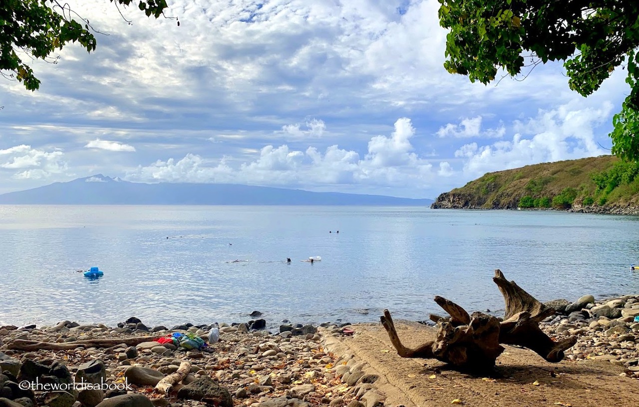
[[[455,152],[464,159],[465,174],[474,177],[520,166],[608,154],[595,141],[594,128],[610,119],[611,103],[599,108],[569,103],[539,110],[536,117],[515,121],[512,140],[488,145],[465,144]]]

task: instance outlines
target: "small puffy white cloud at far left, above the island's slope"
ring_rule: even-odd
[[[67,163],[62,151],[44,151],[22,144],[0,150],[0,169],[12,170],[15,179],[43,179],[63,174]]]

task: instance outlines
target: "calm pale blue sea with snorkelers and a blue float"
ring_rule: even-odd
[[[339,230],[339,233],[337,233]],[[167,239],[168,238],[168,239]],[[501,269],[539,300],[639,293],[639,217],[425,207],[0,205],[0,325],[500,315]],[[321,256],[308,263],[309,256]],[[286,263],[286,258],[293,260]],[[235,262],[233,260],[245,260]],[[77,270],[97,266],[99,279]],[[170,327],[170,326],[169,326]]]

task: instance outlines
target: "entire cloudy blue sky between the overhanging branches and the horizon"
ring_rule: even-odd
[[[97,48],[33,63],[36,92],[0,77],[0,193],[104,174],[436,198],[610,154],[629,92],[619,70],[583,98],[561,63],[451,75],[437,0],[169,0],[180,26],[68,3]]]

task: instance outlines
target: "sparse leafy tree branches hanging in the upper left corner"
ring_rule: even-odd
[[[134,0],[109,0],[129,6]],[[168,7],[166,0],[141,0],[137,4],[148,17],[158,18]],[[178,25],[180,22],[178,22]],[[79,42],[88,52],[96,40],[89,20],[58,0],[0,0],[0,74],[15,78],[29,91],[40,87],[27,63],[43,59],[57,63],[52,54],[67,43]]]

